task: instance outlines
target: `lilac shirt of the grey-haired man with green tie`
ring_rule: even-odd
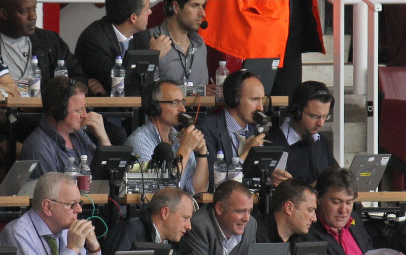
[[[51,247],[42,237],[44,235],[56,238],[61,255],[76,254],[75,251],[66,247],[67,229],[53,235],[40,215],[33,209],[6,225],[0,233],[0,246],[17,247],[17,255],[51,254]],[[85,254],[86,249],[82,248],[79,255]],[[97,254],[101,254],[101,252],[99,251]]]

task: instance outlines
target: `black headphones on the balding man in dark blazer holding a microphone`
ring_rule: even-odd
[[[243,81],[250,77],[257,77],[247,69],[241,69],[229,74],[223,84],[224,104],[229,108],[237,108],[240,105],[240,89]]]

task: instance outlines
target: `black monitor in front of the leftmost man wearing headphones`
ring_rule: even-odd
[[[109,180],[108,169],[116,169],[121,180],[131,158],[132,146],[97,146],[90,170],[93,180]]]

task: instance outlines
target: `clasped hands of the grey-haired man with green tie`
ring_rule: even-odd
[[[91,221],[88,221],[86,219],[75,220],[72,222],[69,230],[67,230],[67,247],[78,254],[85,245],[85,240],[87,238],[91,239],[91,244],[94,245],[92,236],[95,237],[96,235],[94,234],[94,227]],[[96,249],[97,247],[95,247],[94,249]]]

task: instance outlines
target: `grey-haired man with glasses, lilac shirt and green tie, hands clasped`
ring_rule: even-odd
[[[77,218],[80,198],[71,176],[43,175],[35,186],[32,208],[3,229],[0,246],[17,247],[17,255],[101,254],[91,221]]]

